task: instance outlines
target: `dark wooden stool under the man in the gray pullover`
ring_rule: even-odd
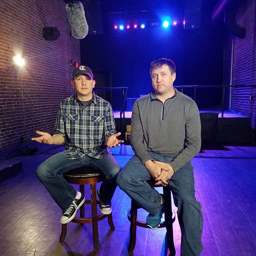
[[[148,180],[148,184],[152,187],[160,187],[156,186],[155,180]],[[168,249],[170,251],[170,255],[174,256],[176,251],[174,247],[173,241],[173,230],[172,230],[172,223],[175,221],[175,213],[172,210],[172,199],[171,199],[171,189],[170,186],[163,187],[163,194],[164,194],[164,218],[165,221],[160,223],[158,228],[166,228],[166,239],[168,244]],[[130,220],[130,241],[128,246],[128,251],[133,252],[135,245],[136,245],[136,228],[137,226],[142,228],[149,228],[146,226],[146,222],[141,222],[137,220],[137,212],[138,212],[138,205],[134,200],[132,200],[131,210],[128,211],[128,220]]]

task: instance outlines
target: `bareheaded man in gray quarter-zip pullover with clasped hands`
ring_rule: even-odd
[[[131,145],[135,156],[118,175],[117,183],[149,212],[146,225],[159,226],[164,212],[162,194],[147,180],[170,186],[178,207],[181,256],[202,252],[202,211],[196,201],[191,159],[200,151],[201,124],[196,103],[174,89],[176,66],[172,60],[151,63],[153,91],[136,100],[132,109]]]

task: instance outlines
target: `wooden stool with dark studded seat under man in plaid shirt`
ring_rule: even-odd
[[[81,167],[73,169],[63,174],[64,179],[71,184],[79,184],[80,192],[84,195],[84,185],[90,184],[91,186],[91,200],[85,200],[84,204],[92,205],[92,217],[84,218],[84,204],[80,207],[80,218],[74,218],[71,222],[80,224],[92,223],[92,234],[94,249],[99,249],[99,236],[98,236],[98,221],[108,217],[108,224],[112,230],[115,229],[111,214],[97,214],[97,204],[100,202],[96,199],[96,183],[101,182],[103,177],[92,167]],[[62,230],[60,234],[60,242],[63,242],[67,234],[67,224],[62,224]]]

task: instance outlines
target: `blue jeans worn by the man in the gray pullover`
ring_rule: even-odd
[[[172,157],[148,152],[152,160],[171,162]],[[160,194],[146,181],[151,176],[144,164],[134,156],[118,175],[119,187],[150,214],[156,214],[160,207]],[[203,218],[201,204],[196,201],[194,172],[191,162],[176,171],[168,180],[174,204],[178,207],[178,220],[181,230],[181,256],[198,256],[202,252]]]

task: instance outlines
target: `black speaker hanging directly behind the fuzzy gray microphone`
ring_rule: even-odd
[[[89,27],[88,34],[103,34],[99,0],[84,0],[84,11]]]

